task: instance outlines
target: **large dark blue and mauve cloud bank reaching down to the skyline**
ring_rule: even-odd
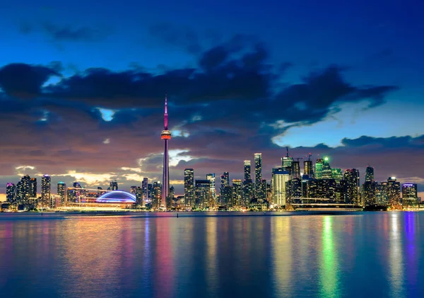
[[[118,178],[125,188],[139,185],[143,177],[160,180],[167,91],[170,129],[180,135],[170,141],[172,180],[182,178],[184,167],[195,168],[197,178],[223,171],[241,178],[242,161],[257,151],[263,153],[264,177],[269,179],[285,154],[273,137],[320,122],[342,103],[365,101],[377,107],[398,88],[355,86],[345,79],[348,70],[336,65],[288,84],[269,59],[264,45],[236,36],[201,52],[196,67],[161,73],[142,67],[92,68],[61,76],[60,62],[8,64],[0,69],[5,107],[0,110],[0,137],[7,139],[0,147],[0,176],[17,180],[16,167],[31,165],[36,167],[31,171],[66,183],[85,179],[105,185]],[[47,84],[52,76],[59,81]],[[378,161],[384,176],[411,177],[420,173],[407,173],[406,168],[417,167],[400,163],[396,154],[416,154],[423,144],[423,137],[360,137],[343,139],[336,148],[320,144],[291,150],[295,156],[331,154],[334,166],[343,168]],[[385,146],[392,149],[379,154],[377,148]],[[387,163],[391,159],[396,164]],[[391,173],[392,168],[399,174]]]

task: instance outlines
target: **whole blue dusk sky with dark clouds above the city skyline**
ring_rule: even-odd
[[[161,180],[165,92],[177,195],[289,147],[424,197],[422,1],[91,2],[0,3],[0,200],[27,173]]]

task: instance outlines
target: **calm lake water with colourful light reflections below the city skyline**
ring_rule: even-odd
[[[424,212],[289,214],[3,213],[0,297],[424,297]]]

